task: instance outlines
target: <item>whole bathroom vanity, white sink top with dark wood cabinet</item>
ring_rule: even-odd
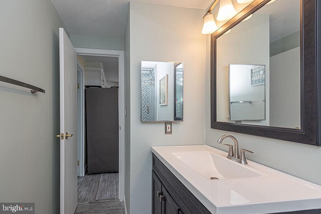
[[[152,147],[152,213],[321,213],[321,186],[208,145]]]

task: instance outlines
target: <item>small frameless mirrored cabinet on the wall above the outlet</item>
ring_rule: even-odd
[[[183,121],[183,63],[141,61],[141,121]]]

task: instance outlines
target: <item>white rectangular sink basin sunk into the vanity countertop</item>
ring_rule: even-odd
[[[208,151],[183,151],[172,154],[205,179],[233,179],[259,177],[262,174],[244,168],[240,163]]]

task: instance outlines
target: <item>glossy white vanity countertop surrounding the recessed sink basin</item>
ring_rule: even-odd
[[[211,146],[155,146],[151,151],[212,213],[273,213],[321,208],[321,186],[250,160],[248,165],[234,162],[226,158],[227,152]],[[262,176],[206,179],[173,155],[185,151],[207,151]]]

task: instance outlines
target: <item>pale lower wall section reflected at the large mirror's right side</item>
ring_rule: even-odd
[[[270,125],[300,127],[300,47],[270,57]]]

